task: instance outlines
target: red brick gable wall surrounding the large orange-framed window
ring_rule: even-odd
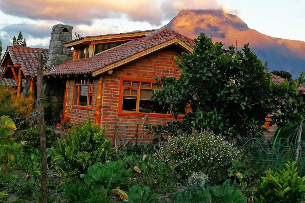
[[[135,135],[137,124],[139,125],[139,135],[143,136],[142,116],[118,115],[120,76],[152,79],[163,75],[179,77],[180,71],[177,71],[178,66],[173,59],[174,55],[178,55],[178,53],[167,48],[114,70],[111,75],[108,73],[104,75],[101,120],[102,126],[105,124],[108,125],[106,131],[108,137],[114,137],[115,120],[117,121],[118,128],[117,142],[122,141],[121,139],[123,138],[125,123],[127,126],[127,140],[131,139]],[[150,117],[148,123],[164,124],[167,121],[173,120],[173,118]],[[151,138],[153,137],[150,136],[149,139]]]

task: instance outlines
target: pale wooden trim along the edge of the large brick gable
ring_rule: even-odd
[[[132,55],[132,56],[130,56],[130,57],[128,57],[128,58],[124,58],[124,59],[122,59],[122,60],[120,60],[120,61],[117,61],[117,62],[115,62],[115,63],[113,63],[113,64],[107,65],[107,66],[104,67],[104,68],[101,68],[101,69],[99,69],[99,70],[96,70],[96,71],[94,71],[94,72],[92,73],[92,76],[96,77],[96,76],[99,75],[99,74],[102,74],[102,73],[104,73],[104,72],[107,72],[107,71],[109,71],[109,70],[111,70],[111,69],[113,69],[113,68],[117,68],[117,67],[119,67],[119,66],[121,66],[121,65],[127,64],[127,63],[129,63],[129,62],[135,61],[135,60],[138,59],[138,58],[141,58],[141,57],[143,57],[143,56],[145,56],[145,55],[148,55],[148,54],[150,54],[150,53],[152,53],[152,52],[155,52],[155,51],[158,51],[158,50],[163,49],[163,48],[165,48],[165,47],[168,47],[168,46],[170,46],[170,45],[172,45],[172,44],[179,44],[180,46],[182,46],[183,48],[185,48],[185,49],[188,50],[189,52],[192,52],[192,51],[194,50],[191,46],[189,46],[188,44],[186,44],[183,40],[181,40],[181,39],[179,39],[179,38],[175,38],[175,39],[169,40],[169,41],[167,41],[167,42],[164,42],[164,43],[162,43],[162,44],[159,44],[159,45],[157,45],[157,46],[154,46],[154,47],[152,47],[152,48],[149,48],[149,49],[147,49],[147,50],[145,50],[145,51],[142,51],[142,52],[140,52],[140,53],[138,53],[138,54]]]

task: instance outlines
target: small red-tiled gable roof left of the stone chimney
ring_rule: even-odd
[[[38,53],[42,53],[44,58],[48,57],[48,49],[7,46],[0,67],[7,54],[10,55],[14,65],[20,65],[25,77],[35,77],[37,74],[37,57]]]

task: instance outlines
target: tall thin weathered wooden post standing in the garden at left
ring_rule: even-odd
[[[37,68],[37,106],[38,106],[38,123],[40,130],[40,152],[41,152],[41,202],[47,202],[47,156],[46,156],[46,139],[45,139],[45,118],[42,102],[42,68],[44,61],[42,54],[38,55]]]

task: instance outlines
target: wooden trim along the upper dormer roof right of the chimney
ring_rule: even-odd
[[[102,36],[95,36],[95,37],[84,37],[80,40],[70,42],[65,44],[65,47],[73,47],[78,44],[82,44],[85,42],[90,42],[90,41],[97,41],[97,40],[111,40],[111,39],[116,39],[116,38],[122,38],[120,41],[126,40],[126,38],[129,37],[141,37],[148,33],[151,33],[152,31],[145,31],[145,32],[138,32],[138,33],[124,33],[124,34],[109,34],[109,35],[102,35]]]

